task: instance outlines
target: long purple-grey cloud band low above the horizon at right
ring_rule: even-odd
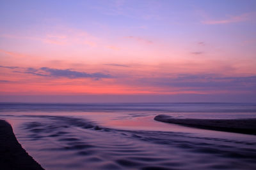
[[[218,74],[178,74],[175,77],[147,77],[136,81],[138,81],[139,85],[144,86],[159,87],[161,89],[175,87],[196,90],[197,92],[205,90],[256,90],[256,76],[222,77]]]

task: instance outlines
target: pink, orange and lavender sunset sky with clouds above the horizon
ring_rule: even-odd
[[[0,1],[1,102],[256,101],[256,1]]]

